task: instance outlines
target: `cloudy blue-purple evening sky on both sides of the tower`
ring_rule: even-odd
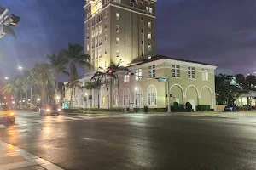
[[[84,0],[0,0],[21,17],[17,40],[0,40],[1,78],[45,62],[46,54],[84,45]],[[255,0],[158,0],[157,51],[218,65],[220,71],[256,71]],[[81,71],[82,74],[82,71]],[[65,80],[64,77],[62,77]]]

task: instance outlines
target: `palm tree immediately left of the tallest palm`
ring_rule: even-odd
[[[52,69],[55,74],[55,89],[56,93],[59,91],[59,73],[65,73],[68,74],[65,68],[65,65],[67,64],[67,59],[64,58],[63,56],[59,55],[47,55],[47,59],[49,59],[50,65],[52,66]]]

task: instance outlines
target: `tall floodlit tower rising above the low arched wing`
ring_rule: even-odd
[[[156,54],[156,1],[84,0],[84,49],[92,71]]]

